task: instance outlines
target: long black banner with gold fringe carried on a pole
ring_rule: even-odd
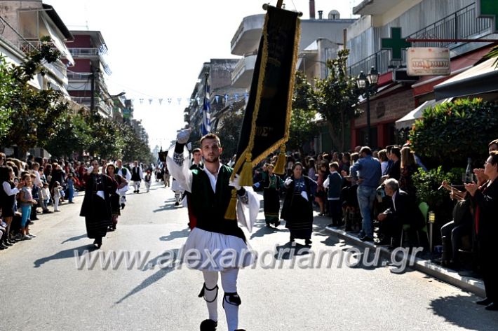
[[[292,90],[300,39],[298,13],[267,6],[248,104],[238,140],[238,173],[254,167],[288,141]],[[250,157],[248,157],[250,156]]]

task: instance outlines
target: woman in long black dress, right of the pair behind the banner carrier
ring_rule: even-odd
[[[316,192],[316,181],[302,174],[302,164],[296,162],[292,166],[292,176],[285,179],[285,200],[283,202],[281,218],[290,230],[290,242],[295,239],[304,239],[311,245],[313,230],[313,194]]]

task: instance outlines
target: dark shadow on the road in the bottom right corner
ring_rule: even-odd
[[[483,306],[474,303],[476,300],[480,298],[475,295],[438,297],[431,301],[429,309],[433,314],[445,318],[448,323],[466,330],[498,330],[498,313],[486,311]]]

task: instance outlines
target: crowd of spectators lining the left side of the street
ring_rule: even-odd
[[[107,160],[100,160],[105,171]],[[88,162],[28,155],[22,161],[0,153],[0,250],[31,240],[40,214],[61,212],[85,188]],[[154,169],[153,166],[149,167]],[[130,168],[128,168],[130,169]],[[150,170],[149,170],[150,171]],[[44,216],[43,218],[51,217]]]

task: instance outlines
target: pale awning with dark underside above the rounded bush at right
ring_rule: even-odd
[[[498,69],[495,69],[495,60],[487,59],[485,62],[434,86],[436,99],[466,97],[498,91]]]

